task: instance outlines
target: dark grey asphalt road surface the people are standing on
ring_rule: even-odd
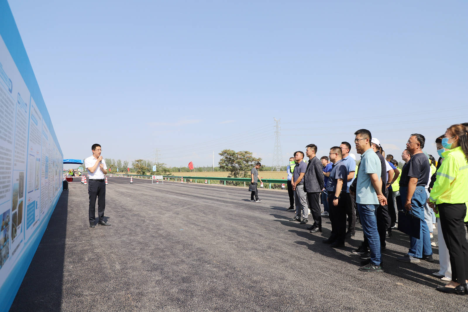
[[[11,311],[467,311],[442,294],[433,263],[403,263],[394,231],[383,273],[358,271],[362,231],[333,249],[289,222],[286,191],[109,178],[105,216],[89,228],[87,186],[69,183]],[[97,204],[96,204],[97,213]],[[434,232],[436,234],[436,232]],[[435,235],[437,237],[437,235]],[[437,241],[437,240],[435,240]]]

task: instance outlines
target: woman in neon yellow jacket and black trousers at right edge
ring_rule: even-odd
[[[467,128],[454,124],[445,132],[442,146],[444,161],[427,202],[439,212],[440,225],[452,267],[452,281],[437,290],[459,295],[468,294],[468,242],[463,220],[468,202]],[[435,203],[435,205],[434,205]]]

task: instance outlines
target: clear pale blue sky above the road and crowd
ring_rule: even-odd
[[[276,117],[284,163],[361,128],[400,160],[411,133],[436,155],[468,122],[466,1],[9,4],[64,158],[271,165]]]

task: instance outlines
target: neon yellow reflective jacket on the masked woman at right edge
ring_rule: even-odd
[[[461,147],[443,152],[442,158],[429,200],[436,204],[468,203],[468,161]]]

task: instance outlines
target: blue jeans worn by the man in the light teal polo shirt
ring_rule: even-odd
[[[380,265],[382,263],[382,254],[380,253],[380,236],[377,231],[377,207],[375,205],[364,205],[358,203],[358,213],[361,218],[362,231],[369,241],[369,248],[371,249],[371,263],[373,265]],[[429,244],[431,244],[429,242]]]

